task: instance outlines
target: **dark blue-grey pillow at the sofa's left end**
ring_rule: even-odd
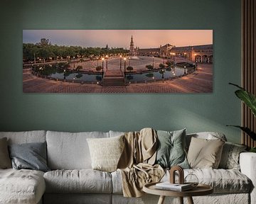
[[[10,145],[9,153],[14,169],[50,171],[46,164],[46,142]]]

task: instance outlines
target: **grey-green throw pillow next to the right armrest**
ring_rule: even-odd
[[[220,159],[220,169],[240,170],[239,155],[246,149],[245,145],[238,145],[231,142],[225,142],[222,156]]]

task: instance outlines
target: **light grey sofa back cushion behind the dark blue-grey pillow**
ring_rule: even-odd
[[[7,137],[8,145],[28,142],[46,142],[46,131],[0,132],[0,138]]]

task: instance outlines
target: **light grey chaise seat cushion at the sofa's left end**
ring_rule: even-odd
[[[38,203],[45,190],[43,171],[0,169],[0,203]]]

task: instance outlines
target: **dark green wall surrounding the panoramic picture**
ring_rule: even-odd
[[[1,0],[0,130],[224,132],[240,142],[240,0]],[[23,29],[213,29],[212,94],[23,94]]]

